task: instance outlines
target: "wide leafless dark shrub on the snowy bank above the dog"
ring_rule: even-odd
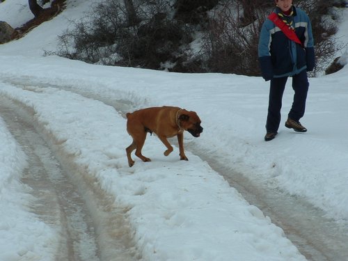
[[[125,1],[128,2],[129,1]],[[129,7],[122,1],[99,3],[73,29],[59,36],[58,55],[88,63],[159,69],[177,63],[177,49],[190,42],[186,25],[168,17],[168,3],[136,1]],[[136,20],[135,18],[136,17]]]

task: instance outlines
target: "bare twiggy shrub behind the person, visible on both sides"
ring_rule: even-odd
[[[333,3],[326,0],[298,1],[309,14],[315,38],[317,66],[311,76],[325,70],[327,62],[341,48],[335,40],[337,31],[331,14]],[[247,9],[246,9],[247,8]],[[206,67],[212,72],[260,76],[258,38],[264,19],[274,8],[273,2],[260,2],[258,8],[250,0],[227,0],[216,8],[205,35]]]

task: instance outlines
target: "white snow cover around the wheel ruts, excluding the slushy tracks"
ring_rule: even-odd
[[[26,0],[0,3],[12,26],[31,18]],[[280,127],[265,142],[268,82],[231,74],[177,74],[88,65],[56,56],[56,36],[93,1],[67,1],[61,15],[20,40],[0,45],[0,95],[34,111],[42,135],[115,197],[126,209],[143,260],[306,260],[260,209],[190,152],[164,157],[164,145],[148,135],[144,163],[129,168],[131,138],[125,118],[100,100],[133,109],[173,105],[198,113],[204,132],[184,144],[262,185],[306,198],[327,216],[348,220],[348,68],[310,79],[306,134]],[[21,13],[17,20],[15,10]],[[348,17],[348,10],[345,10]],[[339,35],[348,42],[348,21]],[[78,94],[80,93],[80,94]],[[81,95],[84,94],[84,95]],[[100,99],[99,99],[100,98]],[[283,122],[292,102],[291,79],[283,98]],[[116,102],[117,103],[117,102]],[[53,260],[54,228],[27,211],[20,184],[26,155],[0,118],[0,260]],[[348,258],[348,257],[347,257]]]

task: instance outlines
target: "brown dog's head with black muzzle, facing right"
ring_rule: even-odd
[[[194,111],[187,111],[182,109],[178,118],[180,127],[191,133],[193,137],[199,137],[203,132],[203,127],[200,126],[200,118]]]

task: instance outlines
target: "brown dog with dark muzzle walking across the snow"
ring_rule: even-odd
[[[199,137],[200,133],[203,132],[203,127],[200,127],[200,118],[196,112],[180,109],[179,107],[163,106],[127,113],[127,132],[133,138],[132,144],[126,148],[129,167],[134,165],[134,160],[131,157],[133,150],[136,150],[135,155],[143,161],[151,161],[151,159],[141,154],[147,132],[150,132],[150,134],[155,132],[161,142],[166,145],[165,156],[173,151],[173,147],[168,143],[167,138],[177,135],[180,159],[189,160],[184,153],[185,130],[194,137]]]

